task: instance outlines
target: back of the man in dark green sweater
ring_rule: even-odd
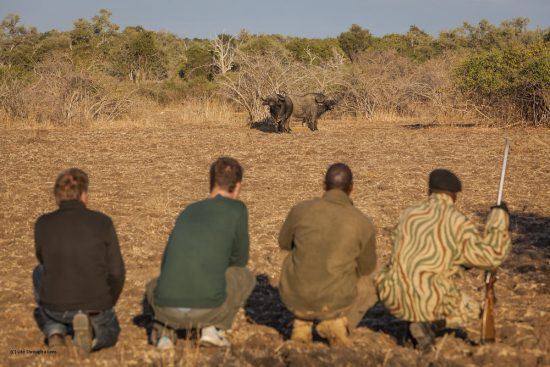
[[[246,266],[247,211],[243,202],[218,195],[189,205],[166,247],[155,290],[163,307],[214,308],[226,297],[225,271]]]

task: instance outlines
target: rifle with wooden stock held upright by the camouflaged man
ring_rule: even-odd
[[[502,194],[504,192],[504,177],[506,175],[506,163],[508,162],[508,152],[510,150],[510,140],[504,140],[504,158],[502,159],[502,171],[500,172],[500,183],[498,185],[497,206],[502,203]],[[481,318],[481,344],[493,343],[495,341],[495,281],[496,269],[485,272],[485,304]]]

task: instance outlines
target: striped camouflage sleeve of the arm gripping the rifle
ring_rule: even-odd
[[[495,208],[489,213],[485,232],[481,236],[474,224],[466,219],[458,231],[458,263],[482,269],[499,266],[512,248],[509,223],[508,213]]]

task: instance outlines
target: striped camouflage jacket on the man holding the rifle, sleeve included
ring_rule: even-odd
[[[511,249],[508,225],[508,214],[493,209],[482,236],[449,195],[430,195],[400,218],[390,264],[375,279],[380,300],[408,321],[456,318],[463,299],[452,276],[461,265],[499,266]]]

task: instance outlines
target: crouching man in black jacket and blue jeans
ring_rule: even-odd
[[[35,319],[48,346],[74,343],[85,353],[116,344],[120,327],[113,310],[124,285],[124,262],[111,218],[86,208],[88,175],[63,171],[55,182],[59,209],[35,225],[33,285]]]

